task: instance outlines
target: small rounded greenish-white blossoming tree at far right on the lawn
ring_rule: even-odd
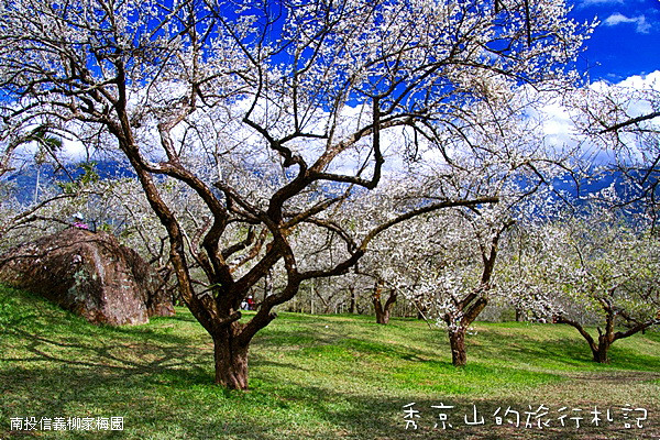
[[[591,206],[538,228],[520,254],[527,268],[517,273],[518,290],[531,286],[527,305],[574,327],[595,362],[608,362],[617,340],[660,323],[660,242],[648,223],[634,224],[609,208]],[[590,333],[580,309],[595,317],[597,336]]]

